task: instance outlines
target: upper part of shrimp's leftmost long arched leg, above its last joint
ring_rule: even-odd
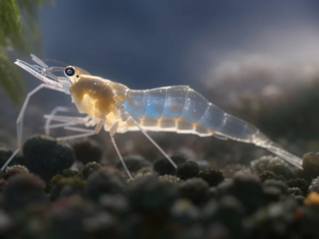
[[[42,88],[47,88],[47,89],[51,89],[51,90],[56,90],[56,91],[62,91],[64,92],[61,88],[58,88],[56,86],[53,85],[49,85],[49,84],[45,84],[42,83],[40,85],[38,85],[37,87],[35,87],[32,91],[30,91],[27,96],[26,99],[23,102],[22,108],[20,110],[18,119],[16,121],[16,125],[17,125],[17,139],[18,139],[18,147],[21,148],[21,143],[22,143],[22,134],[23,134],[23,119],[24,119],[24,114],[26,111],[26,106],[29,103],[29,100],[31,98],[32,95],[34,95],[36,92],[40,91]]]

